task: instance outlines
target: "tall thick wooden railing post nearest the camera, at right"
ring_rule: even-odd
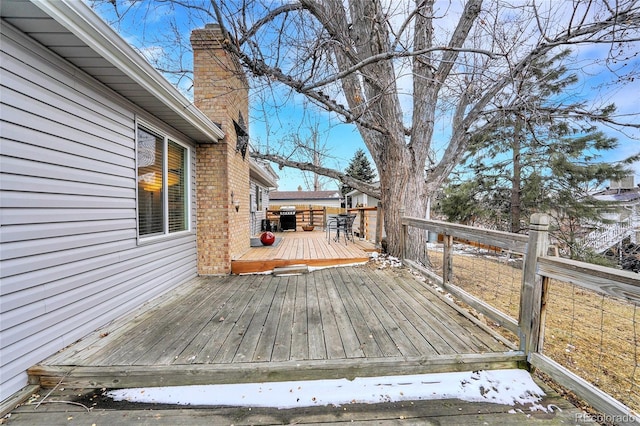
[[[529,225],[529,242],[524,256],[522,287],[520,291],[520,349],[525,355],[537,352],[540,343],[543,278],[537,274],[538,257],[549,248],[549,216],[534,213]]]

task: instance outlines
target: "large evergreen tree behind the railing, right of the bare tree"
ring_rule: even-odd
[[[562,211],[576,221],[597,221],[599,209],[579,205],[587,197],[586,189],[625,173],[620,164],[597,162],[598,155],[614,149],[617,141],[567,112],[582,107],[561,96],[577,83],[562,64],[568,55],[564,51],[532,63],[525,78],[514,85],[512,96],[496,102],[494,114],[501,117],[494,121],[499,125],[472,136],[462,181],[472,185],[466,190],[491,212],[478,216],[485,226],[520,232],[538,211]],[[591,121],[606,121],[614,110],[609,105]],[[455,211],[443,213],[456,217]],[[564,227],[558,223],[556,229]],[[575,239],[567,240],[574,243]]]

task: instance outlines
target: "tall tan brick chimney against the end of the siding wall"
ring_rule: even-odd
[[[194,102],[225,137],[196,149],[198,273],[228,274],[250,245],[249,85],[218,25],[191,33]],[[245,127],[246,126],[246,127]],[[244,146],[244,150],[243,150]]]

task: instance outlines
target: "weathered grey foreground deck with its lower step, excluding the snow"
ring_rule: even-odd
[[[370,263],[296,276],[199,277],[31,368],[31,382],[45,389],[13,410],[9,424],[587,423],[543,383],[547,396],[540,404],[559,409],[451,399],[185,408],[102,396],[104,388],[471,371],[523,362],[521,352],[404,268]]]

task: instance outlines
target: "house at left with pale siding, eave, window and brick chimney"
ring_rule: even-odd
[[[272,176],[246,155],[248,85],[216,27],[192,33],[196,108],[81,1],[2,0],[0,17],[5,400],[96,328],[229,273],[250,180]]]

